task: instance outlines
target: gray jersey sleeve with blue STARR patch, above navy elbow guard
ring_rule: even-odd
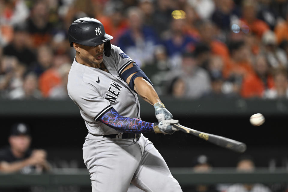
[[[131,57],[126,55],[118,46],[111,45],[111,51],[113,52],[113,56],[115,57],[116,69],[119,75],[131,62],[135,62]]]

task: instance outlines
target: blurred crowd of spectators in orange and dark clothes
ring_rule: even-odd
[[[286,0],[0,0],[0,98],[67,96],[81,17],[100,20],[159,95],[288,98]]]

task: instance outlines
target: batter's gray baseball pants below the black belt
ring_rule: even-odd
[[[83,159],[92,192],[127,192],[130,183],[147,192],[182,192],[163,157],[142,134],[138,141],[88,134]]]

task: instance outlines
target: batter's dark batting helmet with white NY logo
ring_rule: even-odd
[[[83,17],[74,21],[68,29],[70,46],[78,43],[85,46],[96,46],[104,43],[104,54],[109,57],[111,35],[105,33],[103,24],[97,19]]]

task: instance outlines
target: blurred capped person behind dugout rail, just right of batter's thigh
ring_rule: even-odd
[[[199,155],[192,161],[193,171],[196,173],[207,173],[212,170],[211,160],[206,155]],[[199,184],[193,187],[183,188],[186,192],[217,192],[212,185]]]

